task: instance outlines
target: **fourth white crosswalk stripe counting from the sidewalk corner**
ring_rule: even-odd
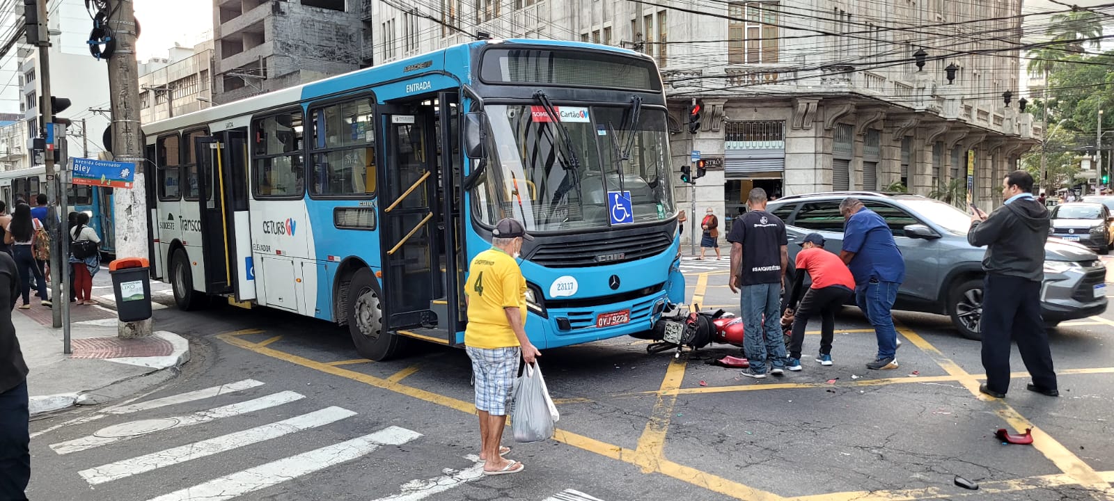
[[[149,501],[223,501],[276,485],[369,454],[380,445],[402,445],[421,436],[404,428],[391,426],[338,444],[304,452],[278,461],[213,479],[208,482],[159,495]]]

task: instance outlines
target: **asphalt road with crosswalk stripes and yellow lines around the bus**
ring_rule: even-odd
[[[685,263],[690,295],[736,310],[725,263]],[[1104,500],[1114,499],[1114,314],[1052,335],[1063,396],[981,399],[978,344],[947,318],[899,313],[900,367],[867,371],[854,308],[833,357],[755,382],[616,338],[544,352],[561,419],[515,444],[524,473],[481,477],[462,351],[419,344],[356,358],[346,330],[272,310],[156,312],[195,341],[174,382],[32,423],[37,500]],[[815,328],[815,327],[812,327]],[[276,424],[277,423],[277,424]],[[1035,445],[995,430],[1034,428]],[[970,491],[956,475],[977,482]],[[1104,493],[1103,490],[1107,491]]]

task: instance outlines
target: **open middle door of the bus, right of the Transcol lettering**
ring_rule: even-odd
[[[250,265],[245,257],[251,256],[247,199],[243,189],[247,176],[246,141],[246,130],[234,129],[199,137],[194,145],[206,291],[235,293],[240,301],[255,295],[254,287],[243,286],[244,278],[253,273],[245,266]],[[237,217],[238,213],[243,213],[243,217]],[[236,245],[237,234],[243,235],[241,239],[248,245],[246,253]]]

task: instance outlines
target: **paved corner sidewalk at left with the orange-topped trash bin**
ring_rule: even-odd
[[[100,275],[108,273],[97,274]],[[111,288],[107,292],[111,293]],[[113,303],[100,297],[97,301]],[[99,305],[72,303],[74,353],[66,355],[62,353],[62,330],[51,327],[50,308],[40,306],[35,298],[31,304],[30,310],[16,308],[11,313],[23,358],[30,369],[27,384],[31,415],[126,396],[169,380],[189,361],[189,342],[177,334],[156,331],[147,338],[120,340],[116,336],[116,312]],[[162,305],[156,303],[154,306]]]

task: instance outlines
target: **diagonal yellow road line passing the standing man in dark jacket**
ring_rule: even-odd
[[[1112,325],[1114,325],[1114,323],[1112,323]],[[1102,477],[1100,477],[1098,473],[1091,468],[1091,465],[1081,460],[1079,456],[1072,453],[1072,451],[1056,441],[1056,439],[1053,439],[1051,435],[1045,433],[1044,430],[1025,419],[1025,416],[1006,402],[999,399],[991,399],[979,392],[978,380],[967,371],[964,371],[962,367],[952,362],[950,358],[945,356],[944,353],[937,350],[937,347],[931,343],[908,328],[899,327],[898,331],[915,345],[924,350],[938,365],[940,365],[941,369],[944,369],[945,372],[956,377],[956,380],[969,392],[971,392],[973,395],[994,405],[996,407],[995,413],[998,414],[999,418],[1004,419],[1015,430],[1024,431],[1026,429],[1032,429],[1033,446],[1040,451],[1040,453],[1052,461],[1053,464],[1055,464],[1061,471],[1066,473],[1081,485],[1102,491],[1111,490],[1108,483],[1104,482]]]

